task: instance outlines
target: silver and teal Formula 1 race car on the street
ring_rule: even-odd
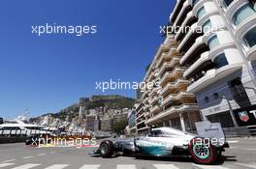
[[[105,140],[92,155],[191,156],[196,163],[211,164],[228,148],[225,139],[204,138],[172,127],[152,128],[144,137]]]

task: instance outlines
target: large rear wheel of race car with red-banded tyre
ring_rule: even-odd
[[[200,164],[211,164],[218,156],[215,147],[203,138],[192,139],[188,151],[193,160]]]

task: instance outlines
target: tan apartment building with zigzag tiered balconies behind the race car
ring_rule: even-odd
[[[186,92],[189,81],[183,77],[186,67],[180,66],[181,54],[174,36],[163,42],[144,76],[146,88],[137,106],[137,131],[151,126],[194,130],[200,121],[194,94]]]

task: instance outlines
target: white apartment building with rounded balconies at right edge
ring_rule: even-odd
[[[177,0],[170,16],[186,92],[222,127],[256,125],[255,11],[255,0]]]

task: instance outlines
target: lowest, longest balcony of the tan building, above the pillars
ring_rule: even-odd
[[[147,121],[144,122],[144,124],[149,125],[152,123],[155,123],[157,121],[162,121],[164,119],[167,119],[174,115],[175,113],[182,113],[182,112],[187,112],[187,111],[198,111],[199,107],[197,104],[191,103],[191,104],[182,104],[179,106],[172,106],[169,109],[159,113],[153,118],[148,119]]]

